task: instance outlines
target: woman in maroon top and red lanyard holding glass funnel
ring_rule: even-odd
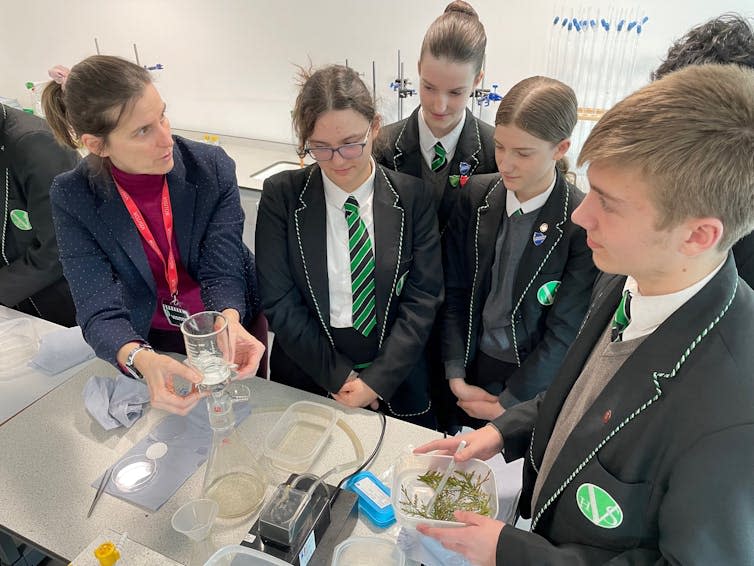
[[[155,350],[184,351],[189,314],[223,313],[239,375],[264,352],[243,326],[258,298],[233,161],[171,136],[138,65],[94,56],[57,80],[43,93],[47,119],[62,143],[90,152],[50,190],[77,320],[97,356],[146,381],[153,406],[185,414],[200,394],[179,395],[173,377],[202,376]]]

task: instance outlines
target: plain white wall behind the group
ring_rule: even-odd
[[[44,80],[56,63],[68,66],[94,53],[162,63],[158,87],[174,127],[274,141],[291,141],[290,109],[295,65],[332,62],[365,73],[387,122],[397,118],[388,88],[397,71],[397,50],[406,75],[416,79],[423,34],[445,0],[2,0],[0,95],[28,105],[26,81]],[[604,17],[613,9],[649,16],[638,45],[631,89],[647,81],[673,39],[725,11],[754,16],[754,0],[667,0],[639,6],[604,0],[601,13],[583,1],[473,0],[487,29],[487,86],[505,90],[518,80],[546,73],[555,15]],[[594,3],[598,4],[598,3]],[[404,115],[417,104],[407,99]],[[483,118],[492,121],[493,109]]]

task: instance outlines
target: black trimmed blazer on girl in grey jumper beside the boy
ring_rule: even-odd
[[[443,242],[446,304],[442,320],[443,360],[474,360],[482,332],[482,311],[490,292],[495,241],[506,214],[507,190],[499,173],[473,177],[460,193]],[[563,361],[584,319],[597,275],[584,229],[571,213],[584,194],[560,172],[537,213],[515,274],[512,335],[519,368],[507,382],[525,401],[544,391]],[[535,245],[535,233],[544,241]],[[537,299],[546,283],[559,281],[551,305]]]

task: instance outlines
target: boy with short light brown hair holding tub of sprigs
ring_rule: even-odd
[[[754,71],[692,66],[597,123],[573,220],[616,275],[545,394],[419,449],[523,457],[531,531],[421,532],[485,565],[754,564],[754,292],[730,255],[754,227],[752,109]]]

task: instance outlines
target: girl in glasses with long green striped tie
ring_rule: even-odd
[[[271,379],[432,426],[424,346],[443,285],[431,197],[374,163],[379,118],[352,69],[307,77],[293,119],[317,163],[267,179],[259,203]]]

